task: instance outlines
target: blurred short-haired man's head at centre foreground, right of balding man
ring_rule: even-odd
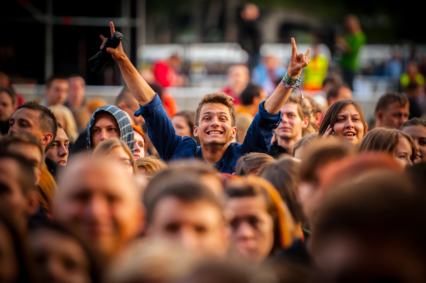
[[[223,258],[229,231],[219,198],[222,191],[209,184],[218,177],[207,170],[188,170],[188,165],[163,169],[148,183],[143,197],[147,237],[165,238],[192,252]]]

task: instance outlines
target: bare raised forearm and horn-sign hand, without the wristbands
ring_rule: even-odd
[[[298,51],[296,48],[296,41],[294,38],[291,39],[291,44],[292,44],[292,50],[291,50],[290,62],[287,69],[287,74],[290,76],[290,78],[296,79],[302,72],[302,69],[306,67],[310,62],[310,60],[308,59],[308,56],[309,56],[309,53],[311,52],[311,48],[308,48],[308,51],[306,51],[306,54],[303,54],[303,53],[298,54]],[[282,108],[285,101],[287,101],[292,90],[293,90],[292,88],[287,88],[286,86],[279,83],[275,91],[265,101],[265,104],[263,105],[263,107],[268,113],[271,113],[271,114],[277,113]]]

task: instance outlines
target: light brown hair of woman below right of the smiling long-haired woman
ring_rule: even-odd
[[[414,161],[417,155],[417,147],[413,138],[401,130],[379,127],[369,131],[358,144],[359,152],[383,152],[393,154],[398,146],[400,138],[405,138],[410,143],[413,152],[410,160]]]

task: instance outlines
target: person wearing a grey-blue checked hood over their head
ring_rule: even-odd
[[[96,109],[87,126],[87,152],[90,155],[95,146],[108,138],[124,140],[134,152],[134,132],[126,112],[117,106],[107,104]]]

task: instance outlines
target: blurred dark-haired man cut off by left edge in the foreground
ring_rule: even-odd
[[[0,206],[26,229],[39,208],[33,165],[21,154],[0,151]]]

